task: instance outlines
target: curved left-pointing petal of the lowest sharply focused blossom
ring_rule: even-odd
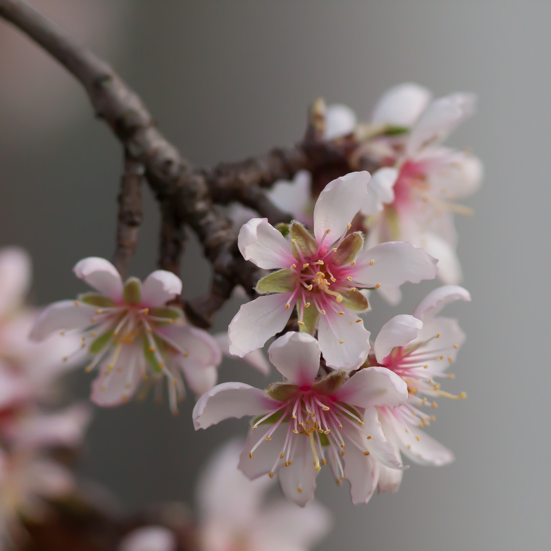
[[[195,429],[206,429],[223,419],[267,413],[280,405],[266,392],[241,382],[223,382],[198,399],[193,408]]]

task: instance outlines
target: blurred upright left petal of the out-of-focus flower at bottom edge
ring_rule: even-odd
[[[255,521],[272,479],[266,476],[249,480],[239,471],[237,465],[243,445],[241,439],[226,442],[213,453],[201,474],[197,497],[202,522],[225,521],[239,529],[250,527]]]

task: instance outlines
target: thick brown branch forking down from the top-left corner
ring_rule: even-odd
[[[214,269],[213,284],[210,294],[187,304],[186,311],[203,327],[210,325],[212,315],[229,298],[235,285],[242,285],[253,296],[257,281],[257,269],[241,257],[231,223],[213,202],[239,201],[272,224],[289,222],[290,215],[274,206],[262,188],[279,179],[291,179],[306,169],[312,172],[316,194],[335,175],[372,165],[369,159],[354,155],[354,139],[323,141],[325,107],[317,100],[309,114],[304,141],[299,145],[273,149],[240,163],[220,164],[212,171],[193,170],[155,127],[139,96],[66,30],[24,0],[0,0],[0,17],[28,34],[79,80],[96,115],[111,127],[128,157],[144,167],[145,178],[163,211],[161,266],[177,272],[183,224],[198,236]]]

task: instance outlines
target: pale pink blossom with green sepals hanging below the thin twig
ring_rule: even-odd
[[[36,321],[31,338],[76,330],[91,356],[87,371],[99,367],[91,399],[99,406],[127,402],[142,379],[168,381],[172,412],[185,393],[182,375],[198,395],[217,380],[222,354],[214,339],[188,325],[182,310],[166,303],[181,293],[182,282],[171,272],[157,270],[144,280],[122,282],[104,258],[84,258],[74,273],[98,293],[79,295],[48,306]]]

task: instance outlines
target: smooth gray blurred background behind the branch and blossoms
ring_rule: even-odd
[[[366,118],[378,96],[412,80],[435,95],[479,95],[479,111],[451,144],[484,161],[482,190],[458,219],[459,255],[473,302],[450,307],[468,334],[430,434],[456,454],[445,468],[413,466],[395,495],[350,504],[322,472],[318,496],[336,526],[320,549],[542,549],[549,523],[549,125],[551,3],[518,0],[35,0],[107,57],[159,126],[198,165],[237,160],[300,139],[318,95]],[[33,300],[84,289],[71,268],[110,257],[121,152],[78,84],[0,22],[0,242],[35,263]],[[133,268],[154,268],[158,214],[146,192]],[[192,243],[185,289],[206,288]],[[404,288],[396,308],[374,300],[368,327],[410,313],[434,282]],[[217,319],[227,326],[237,304]],[[220,380],[267,380],[228,361]],[[89,376],[75,377],[88,391]],[[80,471],[129,507],[193,498],[208,453],[244,429],[194,433],[193,400],[98,410]],[[284,527],[282,527],[284,529]],[[546,543],[547,542],[547,543]]]

